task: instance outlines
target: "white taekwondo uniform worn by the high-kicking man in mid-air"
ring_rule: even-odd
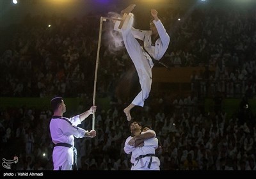
[[[161,20],[153,20],[159,34],[156,43],[152,43],[152,31],[141,31],[132,27],[133,14],[129,13],[125,19],[122,29],[118,29],[120,21],[116,20],[114,30],[120,31],[124,40],[125,48],[134,63],[138,73],[141,85],[141,91],[132,100],[132,104],[144,106],[144,101],[148,98],[152,84],[152,70],[154,66],[152,58],[159,60],[163,57],[170,43],[170,36],[166,33],[166,29]],[[143,40],[143,47],[135,39]],[[144,49],[143,49],[144,48]],[[146,52],[147,51],[147,52]]]

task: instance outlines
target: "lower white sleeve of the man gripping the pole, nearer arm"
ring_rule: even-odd
[[[76,138],[82,138],[85,134],[85,130],[83,128],[71,125],[70,123],[68,123],[68,121],[65,120],[60,121],[59,128],[66,136],[73,135]]]

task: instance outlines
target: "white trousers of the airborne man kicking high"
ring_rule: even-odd
[[[143,107],[144,101],[148,98],[152,84],[152,70],[147,57],[143,53],[140,43],[131,33],[133,17],[131,17],[127,28],[122,29],[122,36],[125,48],[134,63],[136,71],[140,79],[141,91],[132,100],[132,104]]]

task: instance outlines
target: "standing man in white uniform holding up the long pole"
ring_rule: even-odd
[[[63,113],[66,112],[66,105],[62,97],[55,97],[51,100],[53,111],[52,120],[50,122],[50,131],[54,149],[52,152],[52,160],[54,170],[72,170],[77,169],[76,166],[76,148],[74,147],[74,137],[95,137],[95,130],[84,130],[77,127],[90,114],[95,113],[97,107],[94,105],[88,111],[74,116],[72,118],[64,118]]]

